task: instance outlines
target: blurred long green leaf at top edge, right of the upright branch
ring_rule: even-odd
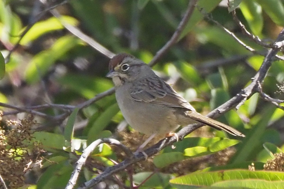
[[[202,9],[206,13],[210,13],[213,9],[215,9],[222,0],[199,0],[197,1],[197,7],[195,7],[193,14],[191,15],[189,21],[187,22],[185,28],[181,32],[179,40],[181,40],[187,33],[189,33],[194,26],[203,19],[203,14],[199,11]],[[216,35],[215,35],[216,36]],[[218,35],[217,35],[218,36]]]

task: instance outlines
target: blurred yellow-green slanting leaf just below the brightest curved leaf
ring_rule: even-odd
[[[26,81],[30,84],[39,81],[56,60],[62,58],[63,55],[80,42],[80,39],[67,35],[59,38],[50,49],[36,54],[27,65],[25,71]]]

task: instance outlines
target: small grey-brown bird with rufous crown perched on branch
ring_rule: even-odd
[[[110,59],[108,68],[106,77],[112,78],[122,115],[131,128],[150,136],[147,143],[157,135],[176,136],[174,131],[179,126],[193,123],[245,137],[237,129],[196,112],[142,60],[120,53]]]

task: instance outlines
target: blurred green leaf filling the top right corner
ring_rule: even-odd
[[[279,26],[284,26],[284,6],[281,0],[256,0],[271,20]]]

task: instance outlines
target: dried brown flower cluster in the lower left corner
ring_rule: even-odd
[[[0,123],[2,112],[0,111]],[[2,122],[3,123],[3,122]],[[0,173],[9,188],[24,185],[24,174],[32,165],[40,163],[43,150],[32,141],[33,117],[20,120],[5,120],[0,127]]]

